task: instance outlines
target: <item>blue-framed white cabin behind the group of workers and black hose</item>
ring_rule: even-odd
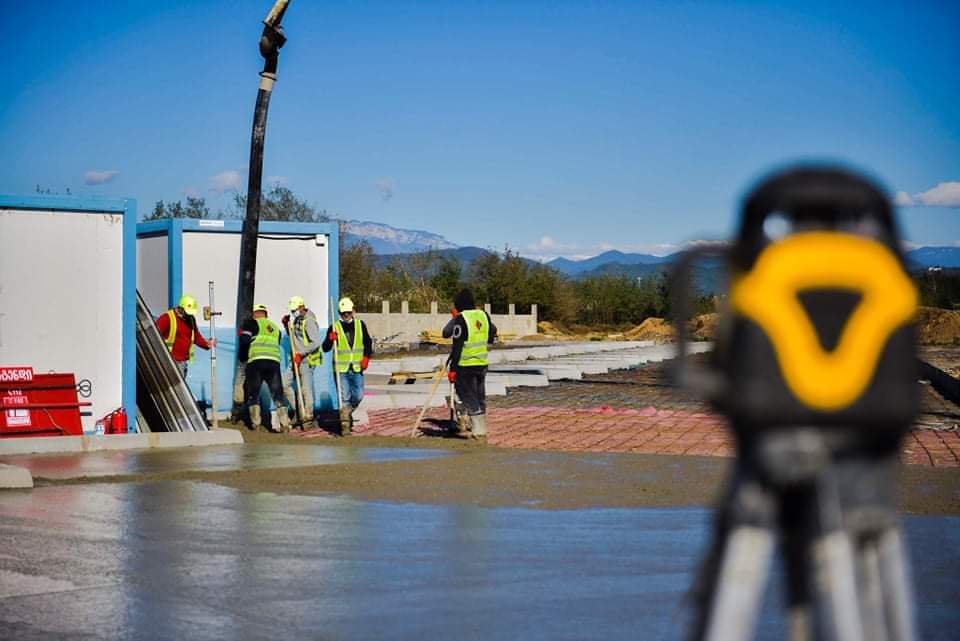
[[[137,226],[137,288],[154,316],[174,307],[182,294],[209,305],[209,282],[214,282],[217,327],[217,405],[230,410],[233,399],[233,366],[236,359],[236,306],[240,264],[238,220],[173,218]],[[254,303],[264,304],[277,324],[287,314],[291,296],[303,296],[317,316],[321,333],[330,322],[330,299],[338,297],[339,251],[335,223],[261,222],[257,240],[257,275]],[[209,325],[197,319],[204,337]],[[284,338],[283,367],[288,367],[289,347]],[[316,409],[333,409],[336,398],[331,354],[315,373]],[[210,358],[197,349],[187,384],[201,402],[211,401]]]

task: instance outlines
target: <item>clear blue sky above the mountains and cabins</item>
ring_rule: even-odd
[[[245,189],[270,0],[17,3],[0,192]],[[960,244],[960,3],[292,0],[264,175],[337,216],[532,256],[722,238],[795,160]],[[92,183],[92,184],[91,184]]]

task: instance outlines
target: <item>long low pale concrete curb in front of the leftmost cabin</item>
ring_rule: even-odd
[[[18,454],[60,454],[104,450],[138,450],[167,447],[200,447],[243,443],[236,430],[207,432],[156,432],[152,434],[111,434],[104,436],[38,436],[0,439],[0,456]]]

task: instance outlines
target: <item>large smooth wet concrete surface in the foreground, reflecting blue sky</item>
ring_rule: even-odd
[[[679,639],[702,508],[538,510],[90,483],[0,500],[0,637]],[[921,638],[960,629],[960,518],[908,517]],[[776,582],[773,584],[776,586]],[[782,638],[778,590],[760,639]]]

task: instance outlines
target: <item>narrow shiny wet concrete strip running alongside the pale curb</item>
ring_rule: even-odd
[[[410,461],[447,453],[436,449],[298,447],[283,443],[220,445],[166,450],[120,450],[78,454],[0,457],[0,463],[30,470],[35,479],[85,479],[176,473],[219,472]]]

